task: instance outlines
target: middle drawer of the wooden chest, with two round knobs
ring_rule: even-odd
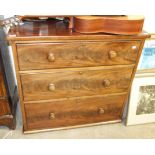
[[[126,92],[133,65],[53,69],[21,74],[25,101]]]

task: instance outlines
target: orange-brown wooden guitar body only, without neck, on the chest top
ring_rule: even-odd
[[[80,33],[133,35],[142,32],[143,16],[75,16],[73,28]]]

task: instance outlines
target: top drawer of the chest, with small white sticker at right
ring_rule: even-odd
[[[20,70],[134,64],[140,41],[17,44]]]

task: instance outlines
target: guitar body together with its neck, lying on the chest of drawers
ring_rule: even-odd
[[[142,32],[144,16],[136,15],[90,15],[90,16],[51,16],[51,15],[24,15],[19,16],[23,21],[46,21],[61,19],[68,22],[68,28],[80,33],[112,33],[112,34],[139,34]]]

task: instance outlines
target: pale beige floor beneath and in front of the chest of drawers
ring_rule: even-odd
[[[68,130],[42,132],[35,134],[22,133],[22,121],[19,107],[17,109],[17,128],[9,130],[0,127],[0,139],[124,139],[155,138],[155,123],[136,126],[125,126],[124,123],[98,125]]]

